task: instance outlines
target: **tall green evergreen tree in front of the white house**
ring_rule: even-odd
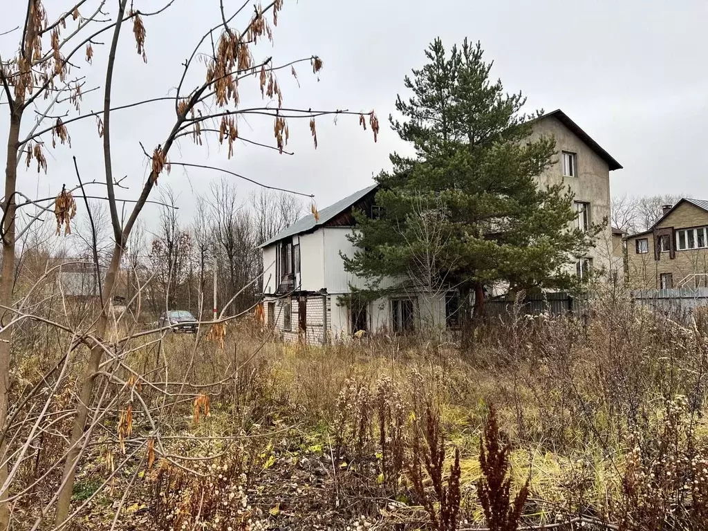
[[[459,289],[462,301],[474,293],[478,315],[485,287],[494,283],[508,282],[511,290],[567,287],[563,266],[582,256],[597,233],[572,228],[569,190],[537,182],[552,163],[555,142],[530,140],[540,113],[522,113],[522,94],[490,81],[492,64],[483,53],[479,42],[464,40],[448,54],[436,39],[426,50],[428,64],[406,76],[413,96],[396,100],[404,120],[389,120],[415,156],[391,155],[392,171],[376,178],[382,214],[358,213],[359,230],[350,236],[358,251],[344,257],[346,269],[374,287],[384,276],[410,279],[414,257],[426,251],[425,241],[416,243],[411,217],[421,215],[421,204],[435,207],[444,235],[435,251],[438,275]],[[463,304],[463,324],[469,316]]]

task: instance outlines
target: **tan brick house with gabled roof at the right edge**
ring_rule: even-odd
[[[708,201],[666,205],[651,229],[626,241],[630,287],[708,287]]]

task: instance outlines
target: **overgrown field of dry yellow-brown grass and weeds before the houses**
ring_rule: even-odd
[[[588,319],[485,324],[464,355],[424,337],[283,344],[251,320],[227,327],[223,348],[171,334],[126,360],[159,426],[122,388],[79,465],[72,525],[702,529],[706,329],[701,315],[678,321],[607,295]],[[486,464],[499,457],[484,473],[482,442]],[[16,508],[28,522],[57,477]]]

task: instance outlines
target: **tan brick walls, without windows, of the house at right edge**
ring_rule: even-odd
[[[690,227],[708,226],[708,212],[695,205],[683,203],[676,207],[666,219],[657,225],[658,229],[687,229]],[[675,236],[674,236],[675,237]],[[646,238],[649,244],[648,253],[636,252],[636,240]],[[627,260],[629,263],[629,287],[632,289],[657,289],[660,287],[661,273],[673,275],[674,287],[689,275],[698,273],[695,280],[698,285],[706,287],[708,280],[708,249],[690,249],[679,251],[676,248],[675,258],[670,259],[669,253],[659,253],[659,259],[654,260],[654,236],[651,232],[627,238]],[[694,280],[687,282],[687,287],[695,287]]]

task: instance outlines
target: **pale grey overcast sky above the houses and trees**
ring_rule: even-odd
[[[73,4],[73,2],[71,2]],[[135,0],[147,11],[161,1]],[[6,4],[8,4],[6,2]],[[0,33],[23,21],[21,2],[4,6]],[[63,0],[45,0],[50,18]],[[115,0],[108,6],[115,13]],[[227,11],[239,2],[224,0]],[[95,0],[86,6],[96,6]],[[130,27],[122,34],[113,89],[115,105],[142,98],[173,95],[181,63],[204,30],[219,23],[219,1],[176,0],[159,17],[148,18],[147,57],[144,64],[135,52]],[[668,6],[670,5],[670,11]],[[571,8],[571,6],[573,6]],[[9,8],[9,11],[7,11]],[[89,8],[82,8],[84,14]],[[9,13],[9,16],[8,16]],[[290,122],[289,149],[293,156],[239,143],[231,160],[225,147],[215,142],[195,147],[185,141],[173,149],[171,159],[220,166],[262,183],[314,193],[319,207],[370,184],[372,175],[389,165],[388,154],[406,149],[387,125],[396,93],[403,91],[404,75],[421,67],[423,50],[440,36],[447,47],[463,38],[481,40],[486,58],[493,59],[494,77],[505,89],[523,91],[528,110],[561,108],[583,127],[620,164],[610,174],[612,194],[682,193],[708,198],[704,166],[708,150],[708,3],[684,0],[625,0],[572,2],[539,0],[285,0],[275,28],[275,45],[259,45],[256,60],[273,55],[275,64],[320,55],[324,69],[319,82],[307,64],[297,67],[295,79],[280,75],[287,107],[356,111],[375,109],[381,120],[379,141],[364,132],[355,117],[317,121],[319,147],[314,149],[307,120]],[[16,50],[18,32],[0,37],[0,52],[7,59]],[[110,41],[110,35],[102,38]],[[76,62],[86,75],[85,91],[103,84],[108,46],[94,47],[92,66]],[[73,74],[79,71],[74,69]],[[191,80],[202,76],[202,65]],[[202,78],[203,79],[203,78]],[[259,105],[256,81],[246,81],[242,105]],[[102,93],[87,94],[81,111],[98,110]],[[156,103],[114,115],[113,157],[115,174],[127,175],[134,198],[147,175],[139,142],[152,151],[173,123],[173,104]],[[40,105],[41,106],[41,105]],[[0,107],[0,133],[6,137],[7,107]],[[28,123],[26,129],[31,125]],[[270,118],[241,122],[241,135],[273,144]],[[55,195],[62,183],[76,182],[72,154],[86,181],[103,176],[101,139],[93,119],[69,127],[72,149],[57,147],[47,156],[49,171],[38,180],[34,167],[21,173],[21,188],[40,195]],[[48,139],[50,139],[48,137]],[[4,146],[0,147],[3,152]],[[160,183],[180,194],[183,218],[193,213],[195,193],[204,193],[210,181],[221,178],[214,171],[173,168]],[[244,199],[253,185],[236,181]],[[101,193],[98,187],[96,193]],[[156,212],[145,212],[152,222]]]

